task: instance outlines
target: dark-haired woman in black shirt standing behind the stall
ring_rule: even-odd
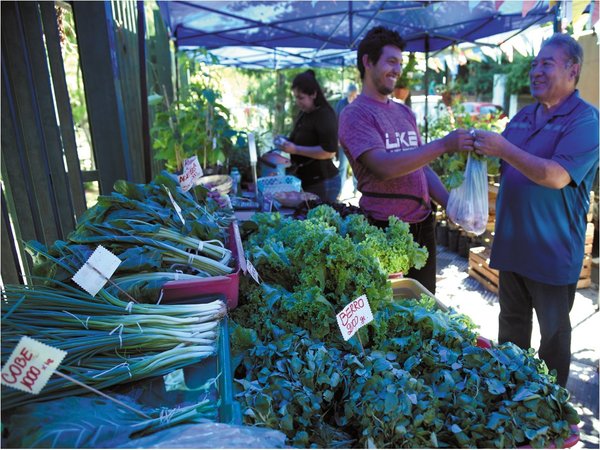
[[[323,201],[335,202],[342,187],[333,164],[338,146],[335,111],[310,69],[296,75],[292,92],[300,113],[289,139],[280,148],[291,155],[294,174],[302,181],[302,189]]]

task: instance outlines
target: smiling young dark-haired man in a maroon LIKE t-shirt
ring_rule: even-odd
[[[472,151],[473,137],[455,130],[423,144],[415,114],[390,99],[402,72],[404,41],[385,27],[369,30],[360,42],[357,65],[360,95],[340,116],[339,137],[358,180],[359,205],[371,223],[385,228],[395,216],[410,224],[416,242],[429,252],[425,267],[407,277],[435,293],[435,215],[431,201],[444,208],[448,191],[429,162],[447,152]]]

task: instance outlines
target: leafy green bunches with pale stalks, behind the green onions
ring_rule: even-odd
[[[66,241],[50,248],[28,243],[35,276],[68,283],[98,245],[121,259],[109,291],[141,303],[156,302],[167,281],[233,272],[225,245],[233,211],[221,208],[206,188],[184,193],[163,173],[148,184],[117,181],[114,190],[98,197]]]

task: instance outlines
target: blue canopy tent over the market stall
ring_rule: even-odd
[[[477,39],[518,34],[548,22],[556,28],[560,2],[159,1],[158,5],[177,50],[206,48],[219,64],[278,69],[353,65],[358,43],[377,25],[397,30],[406,50],[424,52],[428,59],[432,51],[463,42],[477,44]]]

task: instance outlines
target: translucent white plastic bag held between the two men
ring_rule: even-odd
[[[450,191],[446,213],[465,231],[482,234],[488,221],[488,182],[485,159],[467,158],[465,179]]]

